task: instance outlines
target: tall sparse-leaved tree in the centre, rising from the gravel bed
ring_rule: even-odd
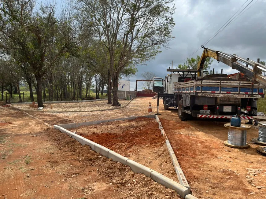
[[[87,20],[95,38],[108,49],[113,105],[118,105],[118,79],[129,65],[145,64],[167,47],[175,26],[173,0],[78,0],[76,16]],[[111,82],[108,81],[111,88]]]

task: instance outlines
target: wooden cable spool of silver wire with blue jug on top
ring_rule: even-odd
[[[249,144],[246,143],[248,125],[241,125],[240,127],[231,126],[230,123],[224,124],[228,128],[228,140],[224,141],[224,145],[231,148],[246,149]]]

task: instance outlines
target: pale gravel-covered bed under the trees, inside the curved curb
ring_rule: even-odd
[[[126,105],[127,102],[128,101],[126,100],[119,100],[121,106]],[[51,105],[53,106],[52,109]],[[107,100],[79,103],[44,104],[45,107],[42,109],[42,111],[92,111],[116,108],[115,106],[111,105],[112,104],[107,104]],[[14,106],[26,110],[37,110],[36,108],[29,107],[29,104],[15,104]]]

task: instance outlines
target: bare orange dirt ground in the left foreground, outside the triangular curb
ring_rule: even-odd
[[[109,161],[23,112],[0,111],[3,199],[179,198],[174,191]]]

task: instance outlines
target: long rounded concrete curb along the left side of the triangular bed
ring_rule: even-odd
[[[153,117],[154,118],[154,117]],[[80,135],[76,135],[74,133],[72,133],[71,131],[68,131],[67,129],[60,127],[59,125],[54,125],[55,129],[58,129],[59,131],[66,133],[67,135],[71,133],[71,137],[73,136],[74,139],[76,139],[77,141],[82,141],[81,144],[82,145],[93,145],[93,148],[91,147],[92,150],[94,150],[95,152],[98,152],[100,154],[102,154],[103,156],[106,156],[108,158],[112,158],[113,161],[118,161],[122,164],[126,164],[128,165],[132,171],[137,172],[137,173],[143,173],[144,175],[146,175],[147,177],[150,177],[151,179],[153,179],[155,182],[158,182],[159,184],[165,186],[166,188],[175,190],[181,197],[185,198],[189,193],[190,190],[185,187],[182,186],[181,184],[167,178],[166,176],[158,173],[157,171],[154,171],[148,167],[145,167],[142,164],[139,164],[133,160],[130,160],[110,149],[107,149],[104,146],[101,146],[95,142],[92,142],[86,138],[83,138]],[[83,139],[82,139],[83,138]],[[82,140],[81,140],[82,139]],[[190,198],[188,198],[190,199]]]

